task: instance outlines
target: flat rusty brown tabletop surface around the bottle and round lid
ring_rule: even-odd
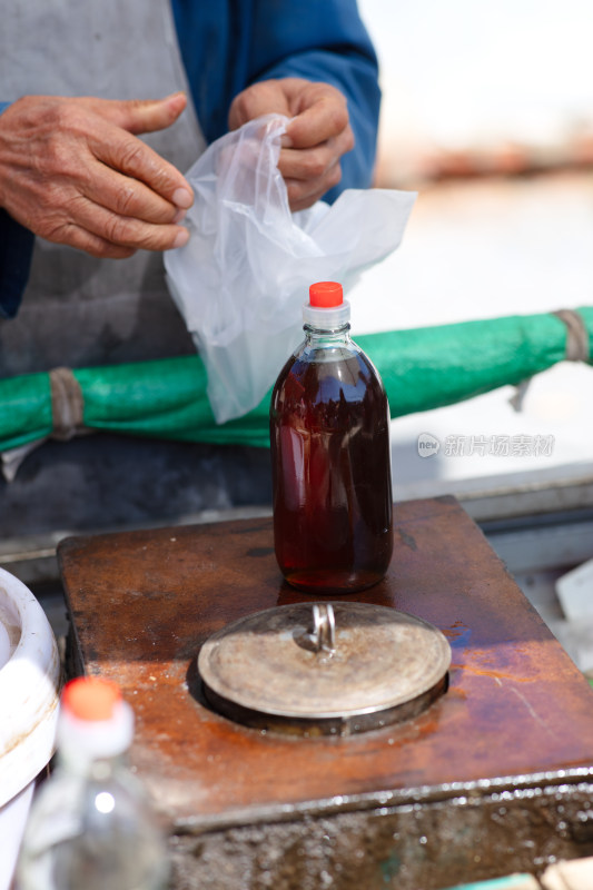
[[[438,627],[453,650],[449,689],[405,723],[345,739],[240,726],[201,696],[195,662],[210,634],[263,609],[310,602],[283,583],[270,521],[60,545],[77,654],[134,705],[134,762],[177,831],[281,821],[329,804],[414,807],[419,788],[480,793],[482,780],[497,777],[530,784],[587,773],[593,692],[480,530],[453,498],[401,504],[395,521],[387,577],[353,600]]]

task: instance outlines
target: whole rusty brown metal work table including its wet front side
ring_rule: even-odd
[[[454,498],[396,505],[388,575],[353,596],[438,627],[448,691],[347,738],[248,729],[204,699],[210,634],[312,601],[283,582],[270,520],[72,537],[59,561],[70,663],[135,708],[176,888],[433,890],[593,853],[593,692]]]

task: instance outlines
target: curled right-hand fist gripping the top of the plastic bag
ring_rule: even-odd
[[[340,158],[354,147],[346,99],[329,83],[263,80],[235,97],[229,128],[271,112],[293,118],[283,136],[278,169],[290,209],[304,210],[339,182]]]

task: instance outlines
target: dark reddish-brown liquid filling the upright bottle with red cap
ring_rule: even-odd
[[[274,388],[270,434],[286,580],[312,593],[376,584],[392,556],[393,507],[387,398],[370,362],[353,349],[329,362],[293,356]]]

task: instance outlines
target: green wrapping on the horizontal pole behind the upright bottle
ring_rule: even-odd
[[[577,309],[593,354],[593,308]],[[392,417],[451,405],[521,380],[566,357],[566,326],[552,314],[511,316],[355,337],[377,366]],[[199,356],[82,368],[83,425],[185,442],[266,447],[269,393],[244,417],[217,425]],[[52,432],[48,374],[0,380],[0,451]]]

